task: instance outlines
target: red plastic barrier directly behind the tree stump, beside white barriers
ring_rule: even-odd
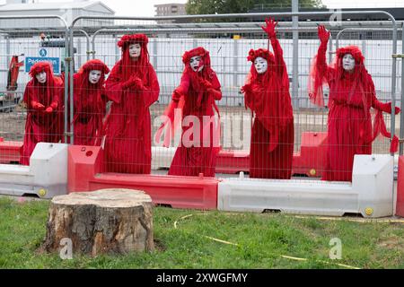
[[[69,192],[102,188],[130,188],[145,191],[154,204],[174,208],[216,209],[218,180],[176,176],[102,173],[100,147],[69,146]]]

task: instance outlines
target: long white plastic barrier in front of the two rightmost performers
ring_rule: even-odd
[[[364,217],[393,214],[393,157],[356,155],[352,183],[320,180],[227,178],[219,182],[223,211]]]

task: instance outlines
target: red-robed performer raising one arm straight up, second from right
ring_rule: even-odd
[[[265,48],[250,50],[250,74],[242,86],[246,108],[255,114],[250,143],[250,178],[291,178],[294,153],[294,115],[289,77],[275,30],[266,20],[274,54]]]

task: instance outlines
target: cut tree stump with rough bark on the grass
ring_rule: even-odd
[[[52,199],[43,248],[71,240],[73,254],[92,257],[154,250],[152,198],[143,191],[101,189]]]

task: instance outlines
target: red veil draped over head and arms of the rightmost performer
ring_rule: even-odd
[[[320,49],[319,49],[320,51]],[[312,100],[312,103],[315,105],[324,107],[324,97],[323,97],[323,84],[328,83],[329,79],[333,79],[338,83],[338,81],[342,78],[344,74],[344,68],[342,66],[342,58],[346,54],[351,54],[352,57],[355,58],[355,71],[354,75],[356,77],[356,81],[362,90],[362,102],[364,106],[364,115],[366,117],[370,116],[368,111],[371,107],[377,110],[376,116],[373,120],[373,131],[372,136],[368,139],[369,143],[372,143],[377,135],[382,134],[385,137],[391,138],[391,133],[387,131],[386,124],[382,117],[383,109],[386,109],[386,105],[379,102],[375,98],[375,89],[372,80],[372,76],[367,72],[364,67],[364,56],[361,50],[356,46],[347,46],[344,48],[337,49],[337,57],[335,57],[333,63],[327,66],[325,62],[325,58],[319,59],[319,55],[316,55],[312,61],[310,79],[309,79],[309,97]],[[322,66],[322,67],[321,67]],[[321,71],[319,71],[319,67]],[[372,97],[372,99],[368,99]],[[332,107],[332,101],[329,102],[329,109]],[[384,110],[386,111],[386,110]],[[397,152],[399,145],[399,138],[396,135],[393,135],[393,139],[391,141],[390,152]]]

